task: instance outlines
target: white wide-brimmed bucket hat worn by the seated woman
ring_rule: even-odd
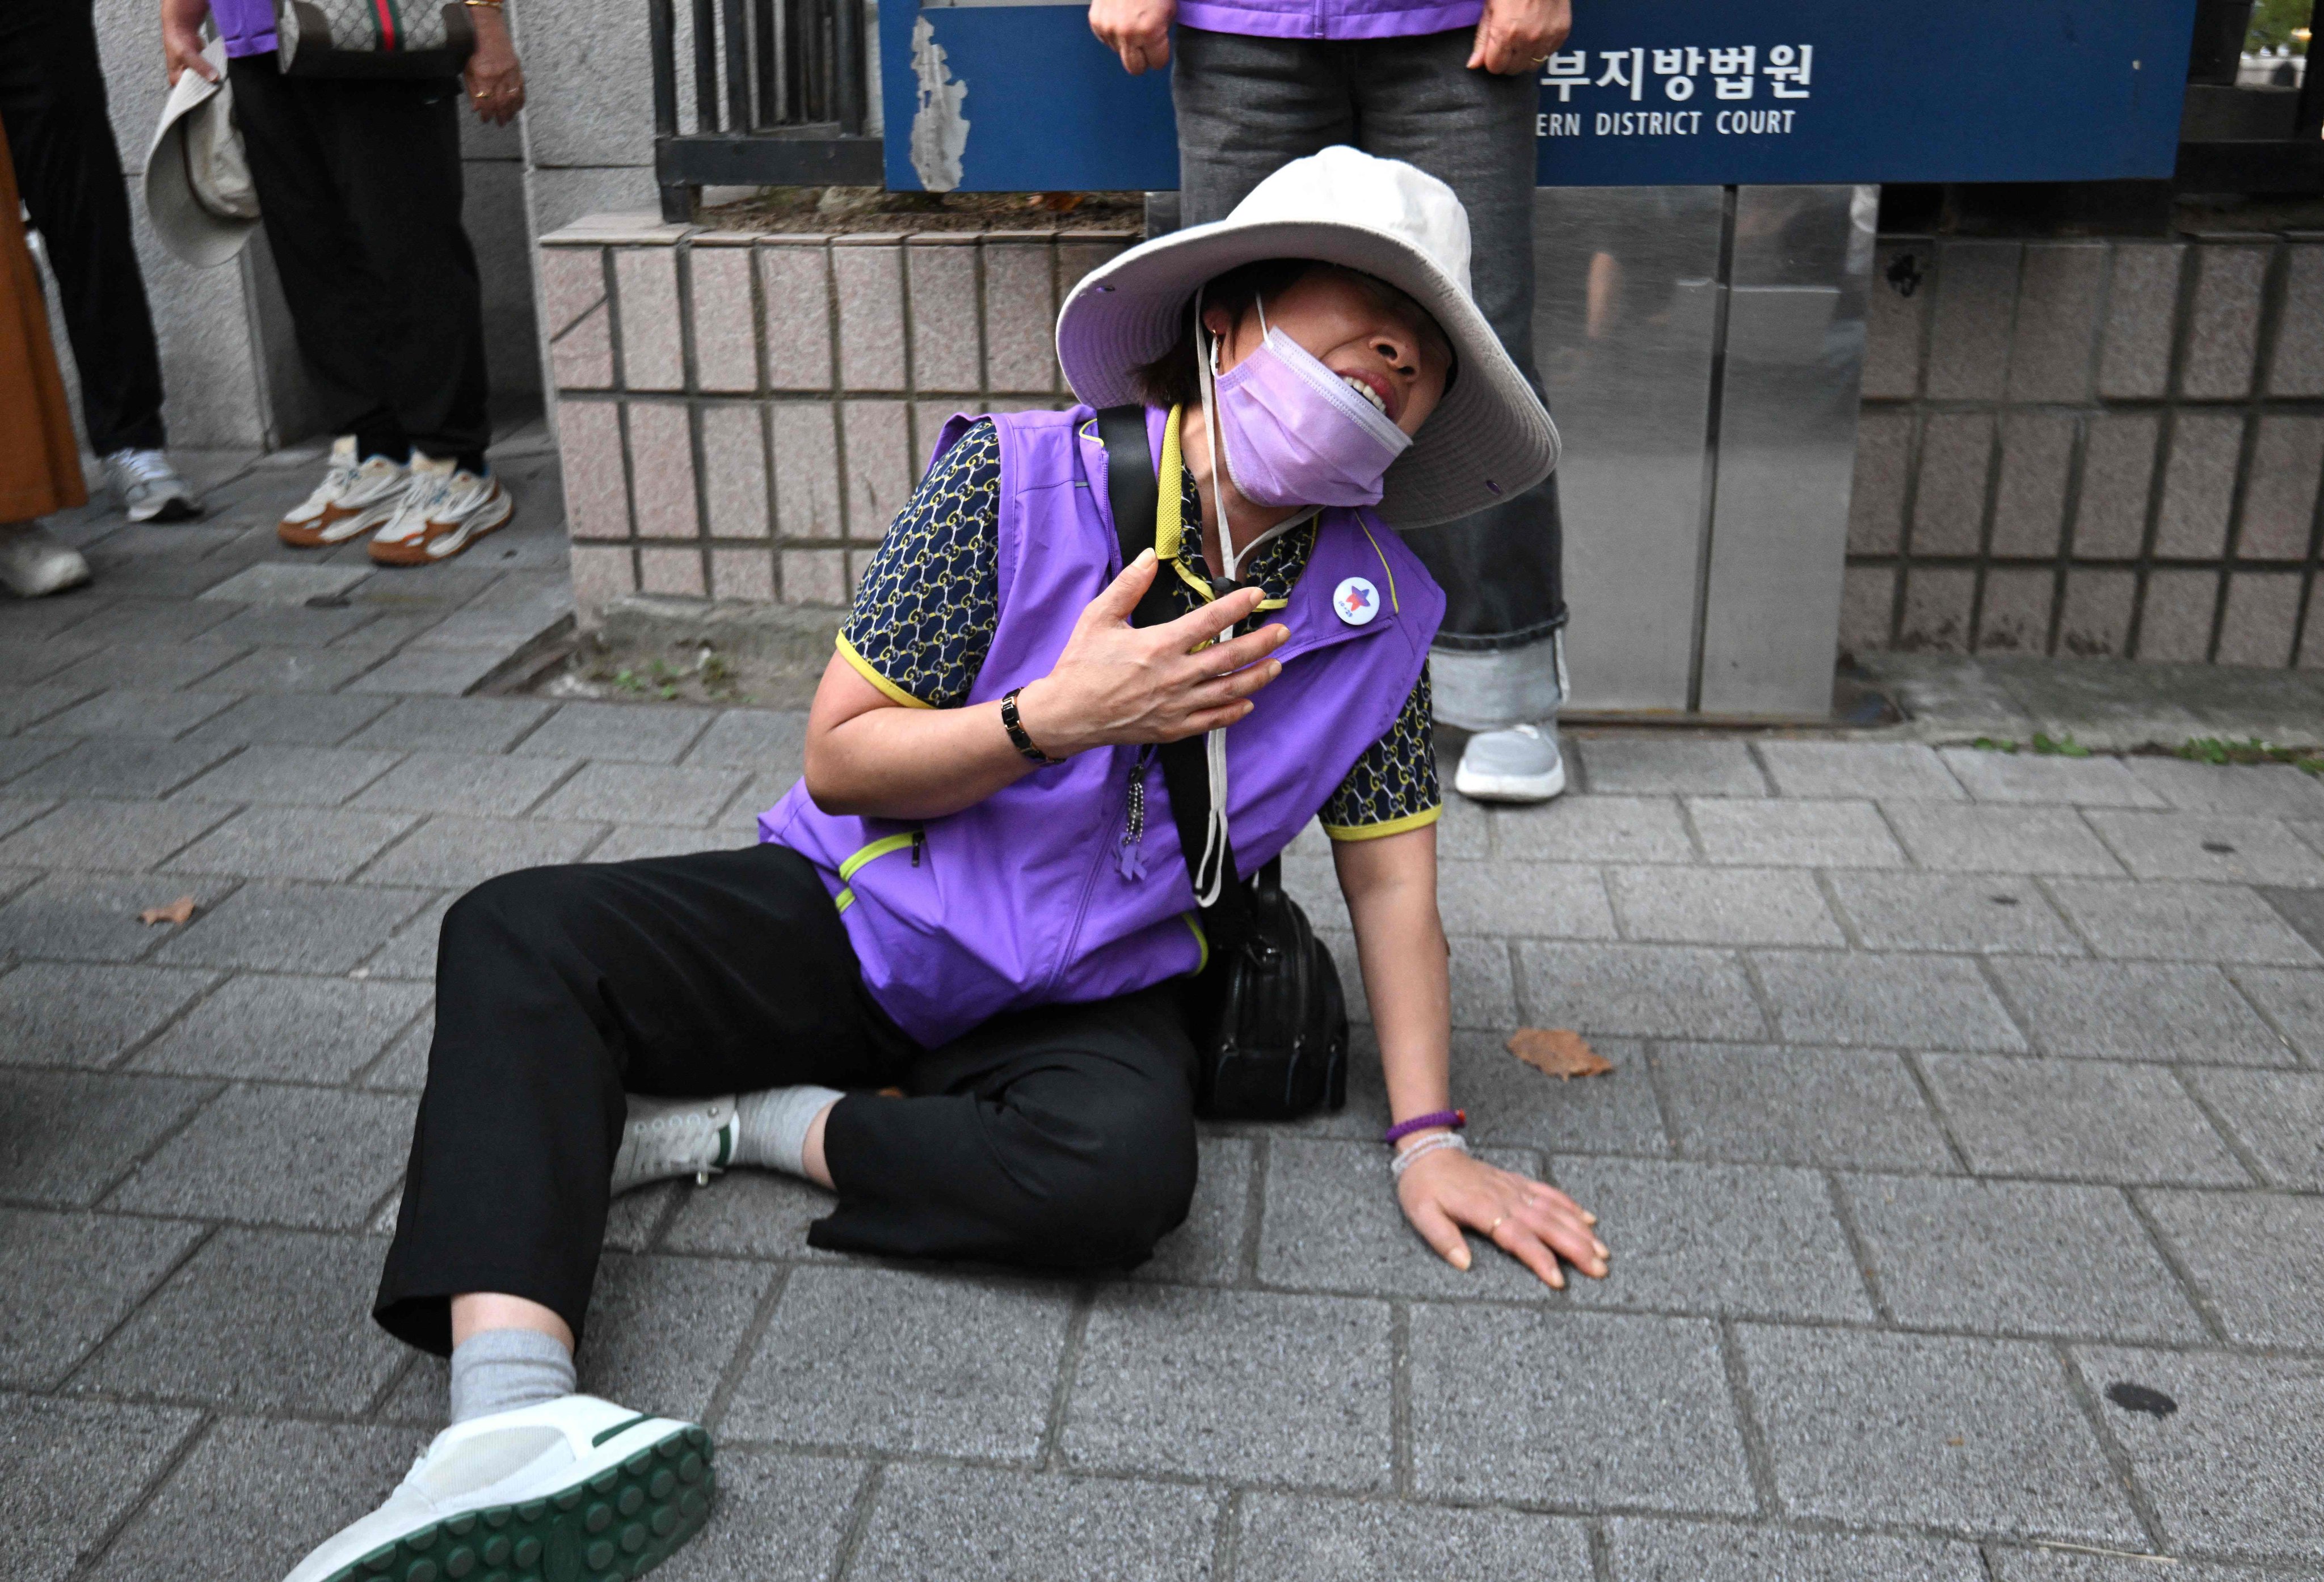
[[[1469,295],[1469,214],[1436,177],[1325,149],[1267,177],[1222,221],[1129,249],[1057,314],[1057,362],[1090,407],[1136,402],[1132,374],[1178,339],[1195,288],[1262,258],[1387,281],[1436,316],[1457,376],[1387,469],[1380,518],[1429,527],[1513,499],[1557,467],[1557,427]]]

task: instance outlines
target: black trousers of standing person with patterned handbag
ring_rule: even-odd
[[[325,427],[365,455],[483,465],[483,286],[460,223],[456,77],[284,77],[228,63],[267,246]]]

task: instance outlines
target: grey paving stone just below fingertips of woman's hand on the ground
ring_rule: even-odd
[[[1415,1306],[1411,1403],[1425,1498],[1752,1510],[1708,1319]]]

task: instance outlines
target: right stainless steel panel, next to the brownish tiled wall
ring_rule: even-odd
[[[1701,606],[1708,716],[1831,711],[1875,214],[1871,186],[1736,190]]]

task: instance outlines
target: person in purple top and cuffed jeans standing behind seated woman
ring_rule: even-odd
[[[1095,0],[1129,74],[1176,67],[1178,218],[1225,218],[1285,160],[1353,144],[1450,186],[1469,211],[1476,304],[1534,393],[1534,74],[1569,0]],[[1476,734],[1452,788],[1548,801],[1566,788],[1557,476],[1406,534],[1448,606],[1436,718]]]

